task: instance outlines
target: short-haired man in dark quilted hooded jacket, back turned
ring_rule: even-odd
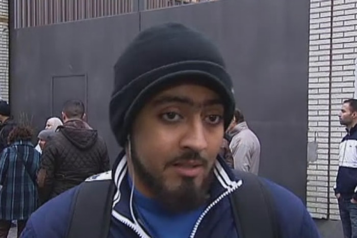
[[[51,135],[42,151],[38,173],[41,202],[110,169],[105,141],[84,118],[83,102],[69,100],[64,104],[64,124]]]

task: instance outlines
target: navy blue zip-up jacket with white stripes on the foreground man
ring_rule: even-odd
[[[192,225],[190,237],[239,238],[228,194],[239,190],[239,187],[244,184],[244,181],[235,177],[221,158],[217,159],[214,174],[215,180],[211,188],[211,202],[200,215],[196,223]],[[114,208],[112,210],[108,237],[152,237],[147,232],[148,229],[130,212],[131,191],[127,180],[125,156],[119,160],[112,172],[106,172],[99,176],[96,175],[95,178],[89,179],[88,181],[105,179],[114,179],[115,185],[118,188],[114,195]],[[320,237],[315,223],[300,199],[272,182],[268,181],[267,184],[276,202],[277,218],[282,228],[282,237]],[[76,189],[78,189],[78,187],[64,192],[40,207],[40,209],[31,216],[21,237],[65,238],[70,220],[70,204]],[[259,221],[257,221],[257,229],[259,229]]]

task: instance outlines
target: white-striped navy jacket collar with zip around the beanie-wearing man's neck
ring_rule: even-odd
[[[139,237],[150,237],[145,228],[138,221],[133,209],[132,191],[127,180],[127,160],[124,152],[121,152],[113,166],[112,179],[117,188],[113,199],[112,216],[124,225],[132,228]],[[218,156],[214,165],[214,180],[210,189],[210,201],[205,211],[197,220],[191,237],[194,237],[203,217],[219,202],[242,185],[242,180],[235,177],[231,169]]]

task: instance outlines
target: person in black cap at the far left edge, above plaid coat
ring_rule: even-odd
[[[0,152],[8,146],[8,136],[12,129],[16,127],[13,117],[10,115],[10,105],[4,101],[0,101]]]

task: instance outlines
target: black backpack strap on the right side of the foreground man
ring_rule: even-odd
[[[234,170],[243,180],[231,195],[233,215],[240,238],[279,238],[275,202],[267,185],[258,176]]]

